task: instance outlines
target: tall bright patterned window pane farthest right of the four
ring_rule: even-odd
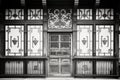
[[[113,56],[113,25],[96,25],[96,56]]]

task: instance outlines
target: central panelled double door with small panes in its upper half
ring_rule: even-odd
[[[49,76],[71,76],[71,33],[49,34]]]

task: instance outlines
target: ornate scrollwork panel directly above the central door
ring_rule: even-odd
[[[48,10],[48,28],[49,29],[70,29],[72,28],[72,10],[55,9]]]

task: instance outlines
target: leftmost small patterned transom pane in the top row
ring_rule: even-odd
[[[5,20],[23,20],[24,10],[23,9],[6,9]]]

